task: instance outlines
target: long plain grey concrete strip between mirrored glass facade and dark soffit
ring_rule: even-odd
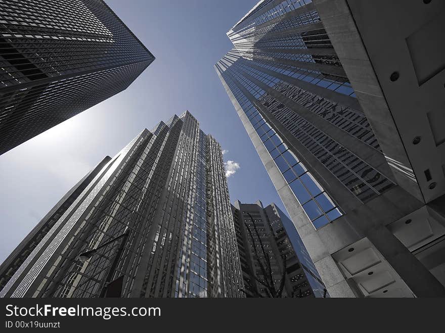
[[[423,200],[402,138],[346,1],[314,0],[314,5],[397,183]],[[406,172],[414,180],[407,177]]]

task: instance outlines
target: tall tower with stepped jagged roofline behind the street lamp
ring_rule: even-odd
[[[243,297],[221,148],[189,112],[98,167],[0,296]]]

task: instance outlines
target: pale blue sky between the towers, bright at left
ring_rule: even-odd
[[[213,65],[257,0],[106,0],[156,60],[125,91],[0,156],[0,262],[81,177],[144,128],[189,110],[239,164],[231,201],[275,202],[268,174]]]

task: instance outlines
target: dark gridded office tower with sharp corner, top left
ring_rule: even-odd
[[[0,155],[126,89],[155,59],[102,0],[0,3]]]

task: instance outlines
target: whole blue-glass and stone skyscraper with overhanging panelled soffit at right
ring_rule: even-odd
[[[377,3],[261,1],[215,70],[331,297],[443,297],[443,4]]]

